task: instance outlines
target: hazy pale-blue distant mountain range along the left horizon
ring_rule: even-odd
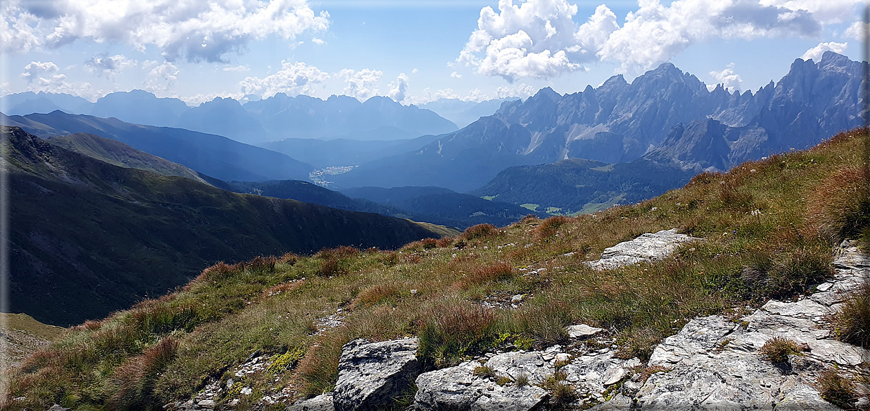
[[[107,94],[96,103],[76,96],[30,91],[0,97],[0,101],[9,115],[46,114],[60,109],[70,114],[115,117],[125,123],[190,129],[242,143],[284,138],[396,140],[458,129],[432,110],[405,106],[385,96],[359,102],[349,96],[321,100],[278,93],[244,104],[232,98],[215,97],[189,107],[177,98],[158,98],[148,91],[134,89]]]

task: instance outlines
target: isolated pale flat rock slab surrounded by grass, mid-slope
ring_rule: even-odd
[[[586,263],[596,269],[612,269],[638,262],[650,262],[670,255],[680,244],[699,241],[704,239],[679,234],[677,229],[663,229],[658,233],[646,233],[634,240],[604,249],[599,260]]]

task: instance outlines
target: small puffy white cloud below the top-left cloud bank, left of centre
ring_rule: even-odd
[[[318,84],[327,79],[329,74],[316,66],[299,62],[288,63],[282,60],[281,70],[278,72],[263,78],[245,77],[239,85],[244,95],[255,94],[265,98],[277,93],[286,93],[289,96],[297,96],[313,93],[317,90]]]

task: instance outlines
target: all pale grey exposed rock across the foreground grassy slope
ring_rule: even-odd
[[[590,265],[612,268],[654,260],[680,243],[699,240],[675,230],[641,235],[607,249]],[[770,301],[742,317],[695,318],[659,344],[646,363],[618,355],[619,347],[606,330],[584,324],[566,330],[572,342],[565,347],[489,353],[423,374],[414,338],[351,341],[339,361],[335,390],[298,401],[287,410],[389,408],[403,395],[408,395],[405,403],[413,410],[521,411],[553,404],[598,410],[839,409],[821,398],[816,384],[820,372],[836,369],[847,377],[867,372],[870,351],[833,339],[826,317],[853,288],[870,281],[870,258],[853,242],[844,242],[835,252],[836,274],[816,286],[818,292],[794,302]],[[510,308],[522,299],[505,295],[494,305]],[[795,341],[802,352],[783,363],[767,361],[759,350],[774,336]],[[252,358],[237,374],[268,365],[260,357]],[[411,382],[416,392],[409,389]],[[223,388],[212,385],[204,389],[205,396],[168,406],[214,408],[214,401],[206,397]],[[288,398],[270,395],[269,403]]]

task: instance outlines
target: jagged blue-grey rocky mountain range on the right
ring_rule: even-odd
[[[541,89],[422,149],[364,164],[336,182],[465,191],[507,167],[566,158],[616,163],[648,156],[693,172],[729,169],[860,125],[861,73],[861,63],[827,52],[820,62],[796,60],[778,83],[755,93],[729,93],[721,86],[708,90],[697,77],[664,63],[632,83],[613,76],[597,89],[565,96]]]

